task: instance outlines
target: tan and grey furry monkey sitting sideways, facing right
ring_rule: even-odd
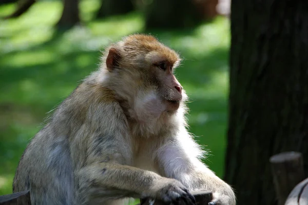
[[[234,190],[202,163],[187,130],[188,97],[174,74],[180,61],[151,35],[111,43],[27,145],[13,192],[29,190],[34,205],[129,197],[192,205],[190,192],[207,190],[209,205],[235,205]]]

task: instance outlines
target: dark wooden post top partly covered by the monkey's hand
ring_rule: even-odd
[[[207,205],[213,199],[213,195],[208,191],[192,191],[192,195],[194,195],[196,199],[196,205]],[[141,205],[169,205],[165,204],[163,201],[152,199],[152,198],[144,198],[140,199]]]

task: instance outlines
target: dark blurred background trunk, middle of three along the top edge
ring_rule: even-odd
[[[97,18],[126,14],[134,10],[131,0],[102,0]]]

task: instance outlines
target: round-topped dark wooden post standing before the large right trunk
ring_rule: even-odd
[[[302,154],[282,152],[269,159],[272,166],[278,205],[283,205],[292,189],[304,179]]]

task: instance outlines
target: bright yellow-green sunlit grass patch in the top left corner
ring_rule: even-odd
[[[0,36],[11,36],[11,38],[8,41],[0,39],[4,47],[1,52],[25,50],[49,40],[54,32],[53,24],[59,18],[61,11],[62,4],[59,1],[37,2],[22,17],[3,20],[0,24]]]

